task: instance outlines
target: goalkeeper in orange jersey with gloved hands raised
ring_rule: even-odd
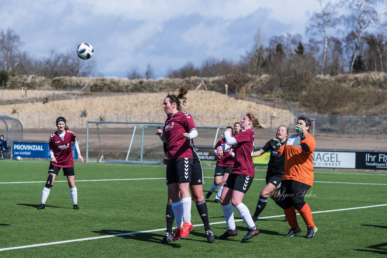
[[[304,196],[313,186],[313,151],[315,138],[309,133],[311,122],[306,116],[299,116],[296,135],[291,135],[285,145],[281,146],[278,139],[272,138],[279,155],[285,157],[285,169],[281,183],[281,198],[284,213],[291,227],[284,236],[294,236],[301,232],[296,218],[296,210],[307,224],[306,238],[312,238],[317,231],[312,220],[312,211]]]

